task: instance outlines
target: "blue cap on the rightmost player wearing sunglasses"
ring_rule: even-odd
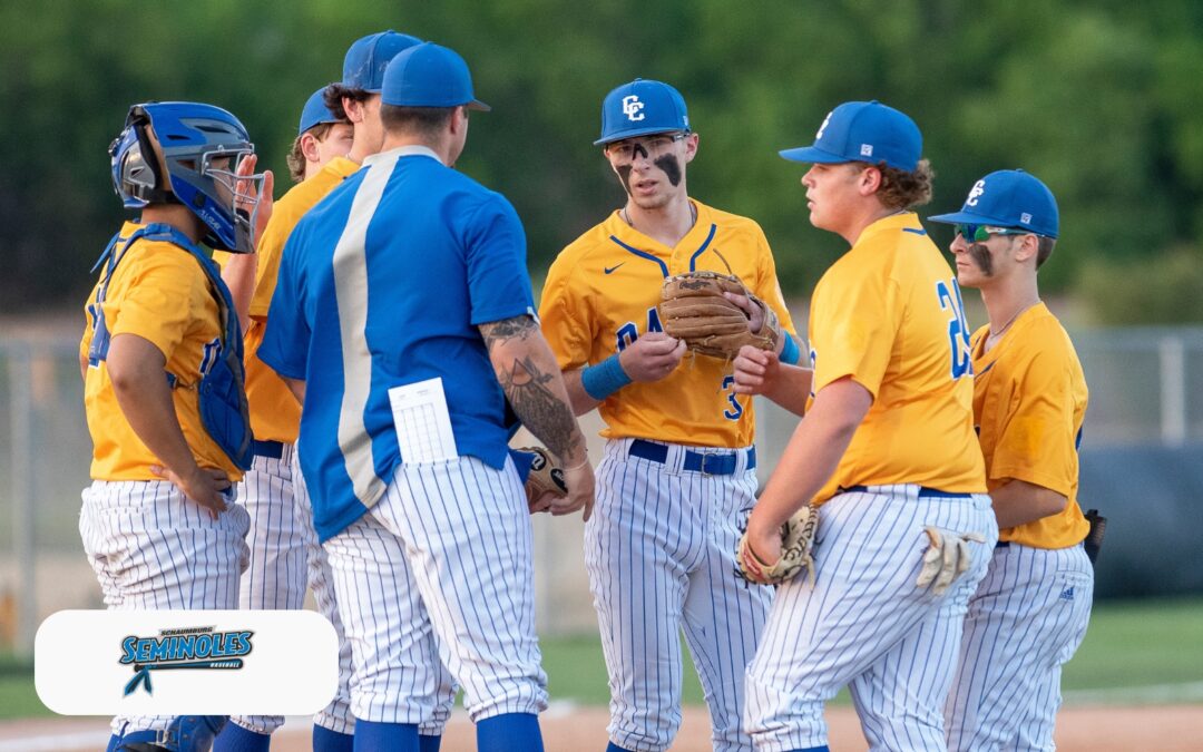
[[[1023,170],[998,170],[973,184],[955,214],[929,217],[949,225],[991,225],[1027,230],[1055,238],[1060,229],[1056,199],[1048,185]]]

